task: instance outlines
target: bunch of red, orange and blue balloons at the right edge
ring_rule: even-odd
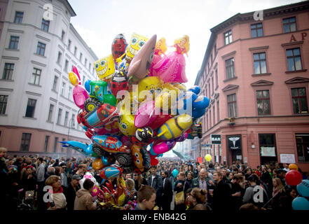
[[[290,171],[285,175],[285,181],[289,186],[296,186],[300,195],[293,200],[292,207],[294,210],[309,210],[309,180],[303,180],[297,165],[290,164],[289,169]]]

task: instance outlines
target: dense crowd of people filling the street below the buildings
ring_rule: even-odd
[[[1,157],[1,205],[6,209],[95,210],[99,198],[92,197],[95,186],[90,179],[80,181],[86,172],[104,186],[92,159],[53,159],[48,156],[6,155]],[[292,210],[296,186],[288,186],[284,176],[288,164],[272,163],[246,167],[240,161],[226,167],[219,163],[160,158],[144,174],[123,174],[126,200],[136,200],[135,210]],[[301,172],[301,170],[298,169]],[[308,179],[308,174],[303,179]],[[116,179],[111,183],[116,190]],[[256,188],[259,186],[259,188]],[[46,188],[53,200],[44,200]],[[256,199],[256,195],[259,195]]]

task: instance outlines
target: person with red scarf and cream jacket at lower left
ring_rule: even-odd
[[[47,202],[48,210],[66,210],[67,199],[65,198],[61,187],[60,177],[56,175],[49,176],[45,183],[46,186],[52,187],[52,192],[50,194],[53,195],[53,197],[51,197],[53,202]]]

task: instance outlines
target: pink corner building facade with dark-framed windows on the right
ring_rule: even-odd
[[[263,20],[238,13],[211,31],[195,80],[211,102],[198,154],[254,168],[295,162],[308,172],[308,1],[263,10]]]

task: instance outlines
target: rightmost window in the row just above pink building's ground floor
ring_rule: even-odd
[[[305,88],[291,89],[291,97],[293,102],[294,113],[308,113],[307,96]]]

